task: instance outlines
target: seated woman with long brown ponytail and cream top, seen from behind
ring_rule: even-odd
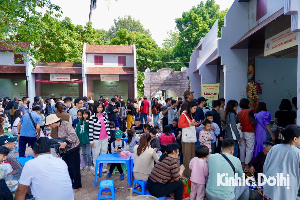
[[[147,181],[154,167],[154,162],[158,162],[158,155],[150,146],[151,136],[145,133],[140,138],[139,145],[134,146],[133,153],[133,176],[137,180]]]

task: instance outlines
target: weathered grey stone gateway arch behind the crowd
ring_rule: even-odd
[[[161,90],[171,90],[176,92],[184,99],[183,93],[188,89],[189,80],[187,79],[187,68],[181,68],[181,71],[174,71],[171,68],[159,69],[157,72],[150,72],[146,69],[144,83],[144,94],[148,101],[155,93]],[[151,105],[151,104],[150,104]]]

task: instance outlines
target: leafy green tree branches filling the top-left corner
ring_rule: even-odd
[[[40,11],[39,11],[40,10]],[[61,16],[61,8],[51,0],[5,0],[0,2],[0,43],[11,45],[12,38],[16,35],[23,35],[24,40],[18,42],[42,43],[46,32],[44,26],[49,21],[41,22],[43,13]],[[28,55],[38,57],[38,49],[17,47],[14,52],[27,52]],[[34,62],[31,60],[32,64]]]

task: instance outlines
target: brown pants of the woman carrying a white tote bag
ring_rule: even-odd
[[[185,167],[183,174],[190,177],[192,171],[188,166],[192,158],[195,157],[195,143],[184,143],[181,141],[181,147],[183,153],[183,166]]]

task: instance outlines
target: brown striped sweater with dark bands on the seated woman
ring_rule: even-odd
[[[177,160],[171,156],[166,156],[162,161],[158,161],[152,169],[149,178],[154,183],[166,184],[171,178],[180,180]]]

